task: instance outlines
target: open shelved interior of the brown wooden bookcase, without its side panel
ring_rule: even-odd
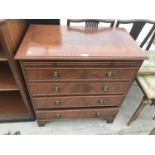
[[[0,121],[22,120],[28,117],[28,110],[0,45]]]

